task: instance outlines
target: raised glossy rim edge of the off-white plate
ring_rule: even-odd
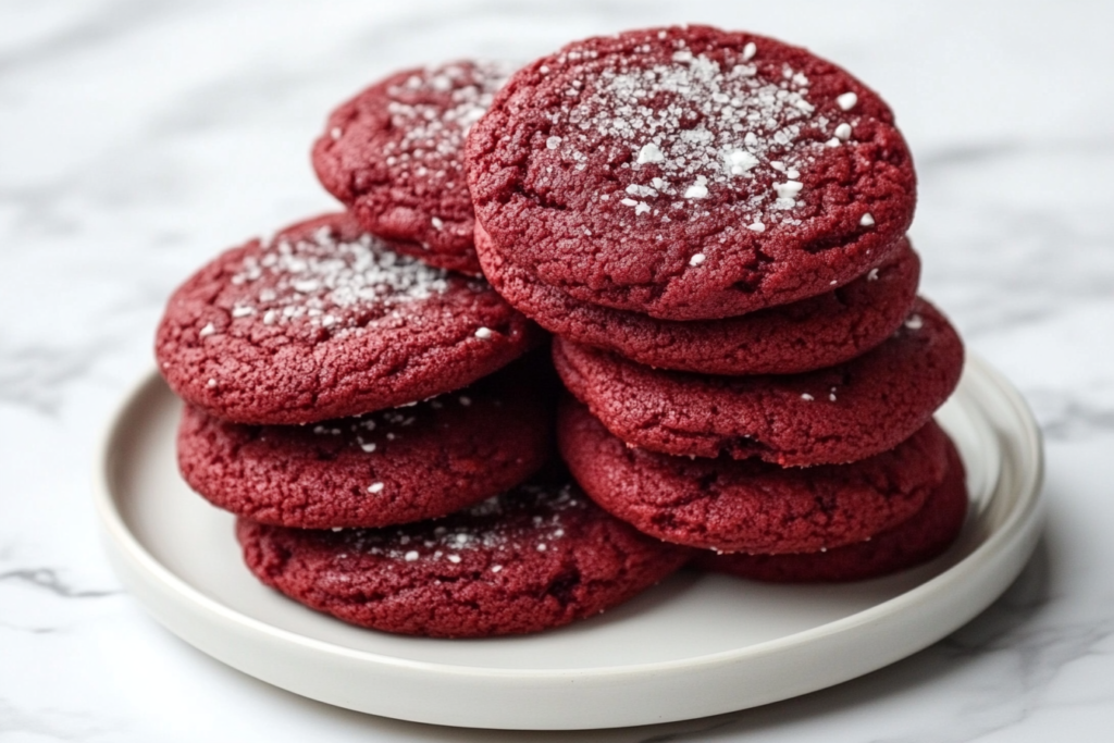
[[[325,653],[331,656],[342,657],[349,661],[365,664],[369,669],[373,667],[390,667],[411,673],[436,674],[443,677],[467,676],[471,680],[487,678],[494,682],[532,681],[544,683],[579,681],[585,682],[586,684],[595,684],[597,682],[615,683],[624,680],[633,681],[645,676],[670,674],[671,672],[693,673],[712,671],[723,668],[725,666],[732,666],[750,658],[758,658],[793,649],[822,638],[838,636],[842,633],[852,630],[862,624],[873,624],[876,622],[892,618],[895,615],[900,615],[912,605],[922,604],[930,600],[932,596],[939,594],[940,592],[946,592],[949,584],[956,580],[961,580],[966,574],[976,570],[979,564],[989,559],[990,556],[996,553],[1000,553],[1009,544],[1028,535],[1032,545],[1028,545],[1025,559],[1020,560],[1020,565],[1024,566],[1024,563],[1028,558],[1028,554],[1032,551],[1032,547],[1036,544],[1036,538],[1033,535],[1039,532],[1040,522],[1043,520],[1044,504],[1040,496],[1044,481],[1044,447],[1040,430],[1020,393],[1017,392],[1017,390],[989,364],[974,354],[968,354],[964,377],[966,378],[968,374],[986,378],[993,384],[995,391],[1003,397],[1005,402],[1008,403],[1008,408],[1013,413],[1013,417],[1016,418],[1017,422],[1020,424],[1018,429],[1012,430],[1012,433],[1015,436],[1022,434],[1019,439],[1024,443],[1024,449],[1027,450],[1028,454],[1030,454],[1030,457],[1026,457],[1025,463],[1027,467],[1025,467],[1022,471],[1023,477],[1018,478],[1016,486],[1017,504],[1012,508],[1001,525],[998,526],[993,534],[984,539],[981,544],[979,544],[969,555],[964,557],[957,564],[898,596],[886,599],[879,604],[840,619],[828,622],[798,633],[753,645],[745,645],[743,647],[685,658],[579,668],[500,668],[419,661],[382,655],[373,651],[346,647],[328,641],[302,635],[297,632],[276,627],[263,619],[243,614],[215,598],[206,596],[198,588],[176,575],[144,547],[144,545],[139,541],[139,538],[128,527],[114,493],[113,468],[116,463],[116,441],[124,434],[124,427],[128,420],[136,414],[139,414],[138,405],[141,403],[143,399],[148,394],[155,393],[158,385],[165,384],[155,369],[148,369],[137,382],[129,387],[129,391],[123,397],[121,401],[114,409],[114,412],[102,429],[94,468],[94,499],[102,532],[109,541],[107,546],[110,547],[110,556],[126,557],[129,559],[131,565],[127,566],[128,568],[138,569],[141,573],[147,574],[148,578],[153,578],[155,583],[164,592],[169,593],[175,600],[188,603],[204,613],[214,615],[224,623],[231,623],[241,630],[262,633],[263,635],[268,636],[272,641],[293,644],[306,651]],[[114,553],[111,548],[115,548],[117,551]],[[117,567],[117,573],[119,574],[121,571],[120,567]],[[1019,569],[1020,568],[1018,567],[1017,570],[1015,570],[1015,574],[1016,571],[1019,571]],[[1010,577],[1010,580],[1012,579],[1013,577]],[[159,616],[159,614],[149,605],[147,600],[145,600],[144,597],[138,596],[138,592],[136,592],[127,580],[124,580],[124,583],[128,586],[133,595],[140,598],[140,603],[144,607],[150,612],[160,624],[166,626],[174,634],[182,636],[189,644],[198,646],[190,637],[186,637],[182,632],[178,632],[175,627],[169,626],[169,624],[167,624],[167,622]],[[1008,581],[1006,585],[1008,586]],[[975,616],[978,612],[981,612],[987,605],[997,598],[997,596],[998,594],[996,593],[993,596],[987,597],[983,606],[978,606],[977,610],[970,613],[970,617]],[[964,622],[969,620],[970,617],[967,617]],[[938,641],[948,632],[954,630],[957,626],[959,625],[949,627],[939,633],[938,637],[921,643],[917,649]],[[213,655],[213,653],[208,649],[201,646],[198,647],[203,652]],[[238,667],[225,658],[219,656],[216,657],[223,663],[233,665],[233,667]],[[241,669],[243,671],[243,668]],[[256,675],[251,672],[246,673]],[[266,678],[264,678],[264,681],[275,683]],[[282,684],[278,685],[282,686]],[[784,698],[784,696],[779,698]],[[322,701],[329,702],[329,700]],[[768,701],[774,700],[771,698]],[[336,702],[330,703],[338,704]],[[341,704],[341,706],[344,705]],[[724,712],[726,710],[724,710]],[[684,717],[674,716],[672,718],[680,720]],[[429,722],[430,720],[426,721]],[[659,721],[664,722],[665,720],[663,718]],[[441,720],[438,720],[437,722],[443,723]],[[448,724],[453,723],[449,722]],[[606,725],[595,726],[603,727]],[[547,729],[554,730],[555,727]]]

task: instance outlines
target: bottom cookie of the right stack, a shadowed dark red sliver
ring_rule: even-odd
[[[964,526],[967,485],[964,463],[948,449],[948,475],[911,518],[867,541],[798,555],[716,555],[695,558],[695,567],[741,578],[776,583],[863,580],[927,563],[944,553]]]

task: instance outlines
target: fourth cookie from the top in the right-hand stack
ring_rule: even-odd
[[[612,515],[658,539],[722,553],[862,541],[916,514],[947,471],[947,437],[932,422],[861,461],[785,469],[631,448],[567,399],[557,443],[576,481]]]

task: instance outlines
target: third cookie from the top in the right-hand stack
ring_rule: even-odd
[[[944,315],[918,300],[878,348],[802,374],[656,370],[564,339],[554,341],[554,361],[573,394],[632,446],[789,467],[851,462],[907,439],[958,384],[964,349]]]

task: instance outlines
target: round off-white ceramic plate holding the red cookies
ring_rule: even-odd
[[[974,499],[934,563],[851,585],[681,574],[605,615],[527,637],[444,641],[348,626],[260,585],[229,515],[178,477],[179,403],[157,377],[105,439],[96,497],[120,578],[186,642],[322,702],[444,725],[570,730],[662,723],[766,704],[930,645],[986,608],[1039,536],[1040,438],[1018,394],[968,363],[938,420]]]

